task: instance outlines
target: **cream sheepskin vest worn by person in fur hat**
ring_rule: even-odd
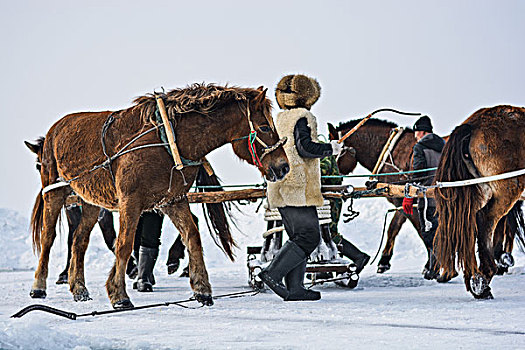
[[[317,140],[317,121],[305,108],[284,110],[277,115],[275,127],[280,137],[288,142],[284,151],[288,157],[290,172],[279,182],[268,183],[268,204],[270,208],[304,207],[323,205],[321,194],[321,169],[318,158],[303,158],[295,147],[295,124],[306,118],[313,141]]]

